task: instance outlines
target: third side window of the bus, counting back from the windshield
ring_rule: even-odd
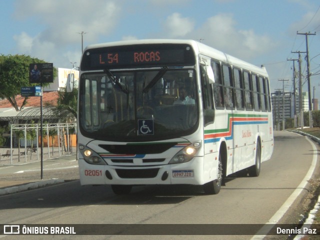
[[[234,89],[231,67],[222,64],[224,105],[226,109],[234,109]]]

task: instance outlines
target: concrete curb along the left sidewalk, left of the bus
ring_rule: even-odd
[[[18,193],[18,192],[27,191],[27,190],[36,189],[36,188],[41,188],[41,187],[45,187],[45,186],[53,185],[53,184],[58,184],[58,183],[64,183],[64,180],[63,179],[49,179],[49,180],[43,180],[43,181],[39,181],[39,182],[23,184],[23,185],[14,186],[14,187],[8,187],[5,189],[0,189],[0,196],[12,194],[12,193]]]

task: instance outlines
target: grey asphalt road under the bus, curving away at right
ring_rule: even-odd
[[[310,173],[313,156],[318,154],[318,150],[312,148],[305,137],[296,134],[275,132],[274,136],[272,158],[262,163],[260,176],[257,178],[229,177],[218,195],[204,195],[202,188],[198,186],[139,186],[134,187],[130,195],[116,196],[109,186],[81,187],[79,181],[75,180],[0,197],[0,220],[2,224],[23,225],[170,224],[173,228],[175,224],[235,224],[235,226],[229,225],[229,228],[233,228],[236,227],[236,224],[263,225],[275,219],[291,224],[298,221],[298,216],[303,210],[303,198],[308,192],[308,186],[301,188],[301,182],[305,181],[306,174]],[[74,175],[76,171],[74,168],[64,168],[72,165],[66,162],[62,162],[62,167],[58,164],[53,165],[54,162],[47,162],[55,169],[45,170],[48,172],[44,171],[44,174],[54,175],[55,172],[56,178]],[[0,169],[0,177],[3,171]],[[7,168],[6,171],[11,171],[11,169]],[[23,169],[12,171],[10,175],[22,176],[27,172],[29,174],[39,173],[35,166],[32,166],[31,169],[30,166],[25,165]],[[72,180],[74,176],[69,178]],[[291,205],[289,211],[281,210],[282,205],[288,198],[292,198],[292,194],[298,187],[301,188],[301,194]],[[101,226],[103,227],[107,226]],[[5,240],[250,240],[252,235],[0,236],[0,238]]]

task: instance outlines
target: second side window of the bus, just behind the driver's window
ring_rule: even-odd
[[[218,62],[211,62],[215,83],[213,84],[213,97],[215,108],[223,109],[224,108],[224,100],[223,100],[223,85],[221,78],[221,67]]]

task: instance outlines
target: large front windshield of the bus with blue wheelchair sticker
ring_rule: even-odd
[[[86,72],[80,77],[81,133],[105,141],[146,141],[186,136],[199,122],[195,71]]]

